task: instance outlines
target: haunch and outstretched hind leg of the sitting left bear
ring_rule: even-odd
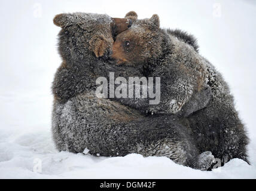
[[[161,124],[159,122],[161,121]],[[167,156],[178,164],[199,168],[194,140],[175,116],[141,115],[115,101],[82,94],[54,103],[53,134],[59,150],[100,156]]]

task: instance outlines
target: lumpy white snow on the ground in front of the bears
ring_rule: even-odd
[[[57,152],[50,130],[5,135],[10,136],[0,143],[0,178],[256,178],[256,168],[241,159],[200,171],[166,157]]]

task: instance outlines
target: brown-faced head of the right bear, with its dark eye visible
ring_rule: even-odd
[[[138,20],[131,11],[125,18],[132,20],[132,26],[116,36],[112,54],[112,63],[135,66],[157,58],[161,54],[161,32],[159,16]]]

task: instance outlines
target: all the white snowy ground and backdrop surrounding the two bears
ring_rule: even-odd
[[[256,178],[253,1],[1,1],[0,178]],[[147,5],[147,9],[145,9]],[[55,14],[83,11],[160,16],[161,27],[193,33],[200,53],[223,73],[248,128],[251,165],[233,159],[214,171],[165,157],[95,157],[57,152],[51,139],[51,81],[60,57]]]

